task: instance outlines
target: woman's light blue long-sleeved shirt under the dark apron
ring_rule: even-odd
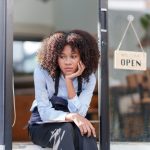
[[[65,116],[68,114],[68,112],[63,112],[52,108],[52,104],[49,99],[55,92],[54,84],[55,82],[48,72],[38,65],[34,70],[35,100],[33,101],[30,110],[32,111],[34,107],[37,106],[43,122],[65,121]],[[75,97],[69,99],[65,79],[61,74],[57,96],[68,100],[68,109],[70,112],[76,112],[82,116],[86,116],[95,84],[96,77],[93,73],[89,77],[89,82],[86,82],[85,80],[82,81],[82,92],[80,95],[77,96],[76,94]],[[77,78],[73,79],[73,85],[77,93]]]

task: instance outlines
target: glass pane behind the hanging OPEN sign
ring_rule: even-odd
[[[109,92],[111,142],[150,141],[150,61],[146,71],[114,69],[114,51],[127,27],[128,15],[143,49],[150,55],[150,3],[147,0],[109,0]],[[121,50],[141,51],[129,27]]]

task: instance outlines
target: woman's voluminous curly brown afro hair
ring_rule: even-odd
[[[90,74],[97,70],[100,52],[96,39],[86,31],[58,31],[45,38],[37,53],[39,64],[55,79],[60,73],[58,56],[66,45],[70,45],[72,50],[78,49],[81,61],[86,66],[81,78],[88,81]]]

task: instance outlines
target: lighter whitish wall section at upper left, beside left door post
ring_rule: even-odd
[[[14,0],[14,33],[45,35],[54,30],[54,2]]]

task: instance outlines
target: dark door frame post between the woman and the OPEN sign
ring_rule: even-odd
[[[99,48],[101,50],[100,95],[100,148],[110,150],[109,130],[109,73],[108,73],[108,0],[99,0],[98,24]]]

